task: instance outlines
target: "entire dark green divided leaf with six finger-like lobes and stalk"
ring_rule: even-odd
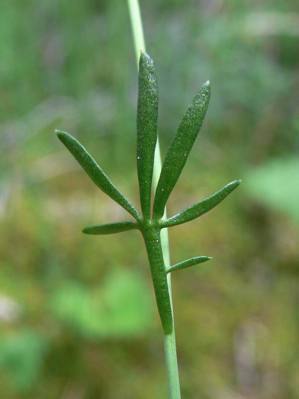
[[[92,156],[74,137],[59,130],[56,130],[56,133],[90,179],[136,219],[136,221],[86,227],[83,229],[83,233],[112,234],[132,229],[142,231],[148,251],[163,329],[165,333],[169,333],[173,324],[166,280],[167,273],[197,265],[211,258],[207,256],[195,257],[166,269],[159,239],[160,230],[164,227],[185,223],[203,215],[203,213],[206,213],[226,198],[241,181],[234,180],[203,201],[192,205],[169,219],[162,219],[167,199],[183,170],[207,112],[210,101],[210,82],[207,81],[196,93],[185,112],[177,133],[166,153],[153,201],[152,220],[154,223],[149,223],[151,219],[153,163],[157,143],[158,97],[158,80],[155,65],[151,57],[142,52],[139,62],[137,102],[137,172],[142,215],[124,194],[114,186]]]

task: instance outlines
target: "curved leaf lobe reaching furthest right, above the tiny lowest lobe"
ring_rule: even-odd
[[[218,203],[223,201],[223,199],[226,198],[228,194],[230,194],[236,187],[238,187],[241,181],[242,180],[234,180],[233,182],[228,183],[212,196],[203,199],[203,201],[192,205],[184,211],[177,213],[177,215],[173,217],[169,217],[169,219],[162,220],[160,222],[161,227],[171,227],[181,223],[186,223],[203,215],[203,213],[208,212],[210,209],[218,205]]]

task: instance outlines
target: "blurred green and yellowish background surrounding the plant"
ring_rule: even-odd
[[[140,0],[162,157],[199,86],[203,128],[168,214],[182,399],[299,398],[299,3]],[[78,138],[139,206],[126,0],[0,3],[0,396],[164,399],[162,330],[138,231],[54,134]]]

